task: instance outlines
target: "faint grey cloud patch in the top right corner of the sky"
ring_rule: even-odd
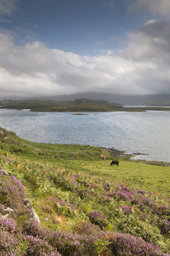
[[[125,0],[128,2],[130,10],[137,11],[146,9],[152,13],[169,15],[170,1],[169,0]]]

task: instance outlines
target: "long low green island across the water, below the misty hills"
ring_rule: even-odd
[[[170,110],[170,107],[123,107],[119,103],[106,100],[77,99],[57,100],[2,100],[0,108],[30,110],[32,112],[144,112],[147,110]]]

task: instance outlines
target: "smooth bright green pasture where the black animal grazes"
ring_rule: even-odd
[[[110,166],[111,161],[74,161],[74,168],[111,176],[116,183],[131,188],[145,188],[148,191],[170,193],[170,166],[155,166],[135,161],[121,161],[119,166]]]

